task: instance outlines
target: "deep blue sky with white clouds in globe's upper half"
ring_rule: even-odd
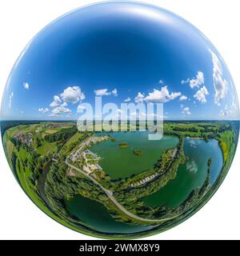
[[[78,118],[81,102],[162,102],[167,119],[238,119],[238,97],[214,46],[188,22],[118,2],[46,26],[10,74],[2,119]]]

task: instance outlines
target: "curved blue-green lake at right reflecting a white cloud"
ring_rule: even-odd
[[[212,159],[210,168],[211,183],[218,178],[222,169],[222,150],[218,146],[218,141],[211,139],[205,142],[201,139],[186,138],[184,142],[184,152],[189,157],[189,161],[178,167],[178,174],[161,190],[150,194],[142,201],[146,205],[152,206],[179,206],[190,194],[192,190],[201,187],[207,177],[207,161]]]

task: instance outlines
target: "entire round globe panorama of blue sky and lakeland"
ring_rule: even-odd
[[[51,218],[102,238],[168,230],[221,185],[238,96],[218,51],[167,10],[74,10],[22,51],[2,98],[2,142],[22,190]]]

